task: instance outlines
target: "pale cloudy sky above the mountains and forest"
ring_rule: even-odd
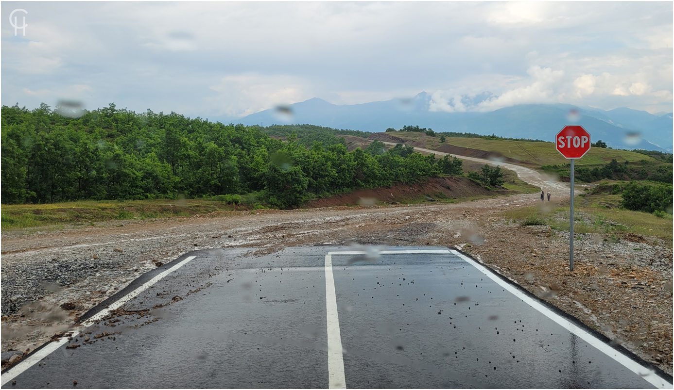
[[[222,118],[427,91],[429,110],[448,112],[556,102],[671,112],[672,7],[3,1],[1,100]],[[8,23],[14,9],[28,11],[14,13],[26,36]]]

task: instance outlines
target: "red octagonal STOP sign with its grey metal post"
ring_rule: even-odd
[[[588,153],[592,141],[582,126],[564,126],[555,136],[555,149],[571,160],[571,213],[569,216],[569,269],[574,270],[574,161]]]

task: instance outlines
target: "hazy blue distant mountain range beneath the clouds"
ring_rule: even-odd
[[[483,98],[489,97],[485,93]],[[661,116],[629,108],[605,111],[570,104],[523,104],[492,112],[431,112],[431,96],[422,92],[410,99],[395,99],[337,106],[314,97],[287,107],[264,110],[233,120],[243,124],[316,124],[381,132],[386,128],[419,125],[436,132],[474,132],[500,137],[552,140],[565,124],[578,123],[619,149],[672,151],[672,114]],[[475,103],[475,102],[472,102]]]

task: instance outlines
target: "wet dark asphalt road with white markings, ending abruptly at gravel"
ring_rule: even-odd
[[[5,370],[2,387],[672,386],[461,253],[348,251],[188,253],[92,309],[72,340]]]

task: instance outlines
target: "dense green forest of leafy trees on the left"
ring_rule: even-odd
[[[365,133],[320,126],[222,124],[115,104],[79,118],[46,104],[3,106],[1,117],[4,204],[252,194],[293,208],[357,188],[462,174],[460,159],[404,145],[385,151],[375,141],[349,152],[335,134]]]

